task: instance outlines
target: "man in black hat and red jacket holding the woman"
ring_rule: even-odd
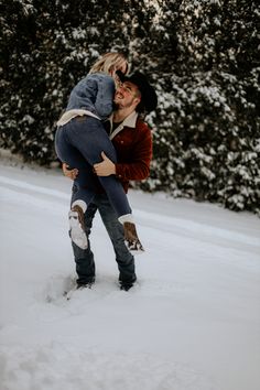
[[[152,137],[151,130],[141,120],[139,113],[154,110],[158,99],[153,87],[143,74],[137,72],[131,76],[122,74],[119,76],[121,84],[115,94],[116,110],[110,120],[105,123],[117,151],[118,162],[115,164],[102,153],[102,162],[95,164],[94,170],[98,176],[116,175],[127,192],[129,181],[141,181],[149,176]],[[63,164],[63,171],[71,178],[75,178],[77,175],[77,170],[68,171],[65,164]],[[73,191],[77,191],[75,186]],[[122,225],[118,221],[107,195],[98,189],[85,213],[85,229],[88,237],[97,210],[113,246],[119,269],[120,289],[128,291],[137,280],[134,258],[124,245]],[[73,250],[78,274],[77,285],[78,288],[90,288],[95,282],[95,261],[90,242],[85,250],[73,242]]]

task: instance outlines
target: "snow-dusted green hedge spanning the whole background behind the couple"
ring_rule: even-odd
[[[0,145],[55,160],[55,122],[108,51],[155,85],[145,191],[260,213],[260,11],[248,0],[9,0],[0,4]]]

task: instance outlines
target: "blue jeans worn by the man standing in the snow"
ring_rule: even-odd
[[[76,192],[77,187],[74,186],[72,202],[74,201]],[[85,213],[85,226],[86,234],[88,236],[88,248],[84,250],[77,247],[74,242],[72,242],[74,258],[76,262],[76,272],[78,275],[77,283],[87,283],[91,282],[95,279],[95,261],[94,253],[90,247],[89,235],[93,227],[93,219],[97,210],[101,216],[104,225],[113,246],[116,261],[118,263],[119,269],[119,281],[122,283],[134,282],[137,280],[134,258],[124,245],[123,227],[118,221],[117,214],[111,207],[107,195],[98,194],[95,195],[93,202],[88,205],[88,208]]]

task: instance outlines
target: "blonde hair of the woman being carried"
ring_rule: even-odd
[[[121,53],[106,53],[102,55],[90,68],[90,73],[105,72],[109,74],[116,66],[120,67],[121,65],[127,65],[128,73],[128,62],[123,54]]]

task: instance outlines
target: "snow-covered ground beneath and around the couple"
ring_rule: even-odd
[[[99,216],[97,282],[73,282],[71,182],[0,162],[1,390],[259,390],[260,219],[130,192],[147,252],[119,291]]]

